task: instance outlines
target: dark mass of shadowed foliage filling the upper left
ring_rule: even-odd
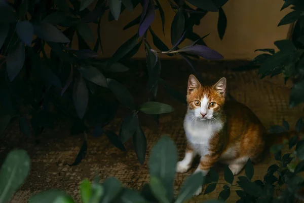
[[[0,1],[1,134],[10,122],[17,120],[24,136],[34,134],[39,137],[45,128],[55,126],[59,112],[72,121],[71,134],[89,132],[94,128],[94,137],[105,134],[121,150],[125,150],[123,143],[133,137],[136,154],[143,163],[146,139],[141,130],[140,112],[157,119],[156,114],[174,110],[157,101],[160,85],[170,96],[182,102],[185,100],[160,78],[159,55],[179,55],[195,73],[191,59],[222,58],[205,45],[203,39],[209,34],[201,38],[193,27],[200,24],[207,12],[218,11],[218,35],[222,39],[227,21],[222,6],[227,0],[168,1],[176,13],[171,24],[170,49],[150,27],[159,13],[164,31],[165,11],[159,0]],[[121,13],[133,12],[135,7],[142,8],[141,15],[128,23],[124,30],[138,26],[138,31],[110,59],[102,58],[98,53],[103,52],[102,42],[106,39],[100,37],[101,18],[109,11],[108,21],[119,20]],[[94,26],[97,26],[97,33],[91,29]],[[147,41],[147,35],[153,36],[153,42]],[[184,39],[193,43],[179,48]],[[78,47],[72,46],[74,41]],[[89,46],[89,42],[94,46]],[[152,44],[157,49],[151,48]],[[137,104],[125,84],[118,80],[122,74],[128,74],[126,61],[141,45],[146,52],[148,101]],[[116,116],[119,106],[113,102],[116,100],[129,109],[119,134],[105,129]],[[71,165],[81,162],[86,151],[85,139]]]

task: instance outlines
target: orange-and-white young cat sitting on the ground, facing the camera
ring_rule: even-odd
[[[225,78],[212,86],[202,86],[194,75],[189,76],[188,108],[183,123],[187,145],[183,160],[177,163],[177,173],[187,172],[199,155],[201,160],[195,173],[206,176],[210,167],[221,162],[229,165],[233,175],[238,175],[249,158],[253,163],[259,162],[272,143],[296,134],[295,131],[277,137],[268,134],[248,107],[235,100],[225,101],[225,95]],[[195,195],[201,192],[202,186]]]

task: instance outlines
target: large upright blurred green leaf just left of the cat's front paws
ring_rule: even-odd
[[[167,136],[161,137],[151,149],[148,161],[151,177],[159,178],[167,191],[167,199],[173,198],[173,184],[176,173],[177,149],[174,142]]]

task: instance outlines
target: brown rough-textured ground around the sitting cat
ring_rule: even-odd
[[[242,62],[237,61],[222,62],[220,64],[200,62],[197,66],[206,83],[216,82],[220,77],[226,77],[231,95],[251,108],[266,127],[270,127],[273,124],[281,124],[283,118],[290,123],[290,126],[294,126],[296,120],[303,116],[303,107],[298,106],[294,109],[288,109],[290,90],[288,86],[284,85],[283,79],[275,77],[260,80],[256,71],[230,71],[232,67],[240,64]],[[135,63],[134,65],[133,71],[136,73],[136,79],[126,79],[143,82],[140,85],[141,87],[132,84],[128,86],[133,95],[138,96],[138,100],[142,99],[144,95],[142,86],[145,86],[145,78],[141,77],[142,72],[137,68],[137,66],[141,65],[140,63]],[[162,78],[178,88],[180,92],[185,93],[189,75],[187,64],[183,61],[164,61],[162,67]],[[151,118],[142,117],[141,123],[147,138],[147,153],[149,153],[151,147],[159,140],[162,134],[168,134],[178,147],[179,158],[182,158],[185,145],[182,121],[186,107],[164,94],[163,88],[159,90],[158,100],[172,105],[176,111],[162,115],[158,128]],[[119,113],[119,117],[110,126],[116,132],[118,132],[121,124],[122,112]],[[18,125],[7,130],[6,140],[0,141],[0,160],[12,148],[20,147],[28,151],[32,161],[30,175],[22,188],[14,195],[11,202],[27,202],[32,193],[50,188],[64,189],[79,201],[78,185],[80,181],[86,177],[93,178],[96,173],[99,174],[101,179],[109,176],[117,177],[123,184],[136,189],[139,189],[148,181],[147,165],[146,163],[140,165],[137,162],[132,143],[128,142],[125,145],[127,151],[122,152],[113,147],[105,136],[93,138],[89,135],[87,157],[77,166],[68,166],[67,163],[73,162],[83,141],[82,135],[69,135],[69,125],[69,123],[60,123],[56,129],[46,130],[39,144],[22,138],[19,134]],[[253,179],[262,179],[271,162],[274,162],[272,158],[266,158],[262,163],[255,165]],[[180,188],[182,181],[195,168],[196,165],[188,173],[176,175],[176,191]],[[223,183],[223,173],[220,168],[219,172],[219,182]],[[244,172],[241,174],[244,174]],[[222,185],[217,185],[214,192],[208,195],[200,195],[191,202],[199,202],[211,197],[216,198],[221,189]],[[232,188],[231,197],[227,201],[235,202],[237,200],[233,191],[235,189],[237,188]]]

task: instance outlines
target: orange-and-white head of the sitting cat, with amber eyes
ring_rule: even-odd
[[[188,112],[200,120],[216,118],[225,103],[226,78],[212,86],[202,86],[194,75],[190,75],[187,88]]]

